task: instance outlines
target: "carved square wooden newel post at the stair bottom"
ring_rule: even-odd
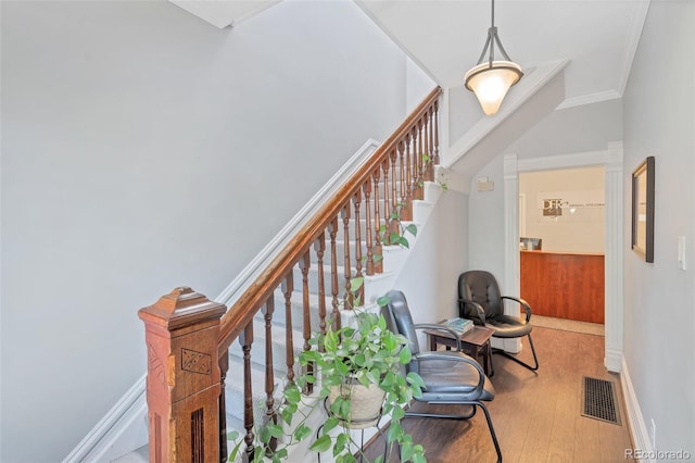
[[[181,287],[138,312],[148,347],[150,462],[219,461],[217,337],[226,309]]]

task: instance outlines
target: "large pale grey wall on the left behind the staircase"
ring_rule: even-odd
[[[406,62],[349,1],[1,8],[0,460],[55,462],[144,372],[137,310],[217,296],[403,120]]]

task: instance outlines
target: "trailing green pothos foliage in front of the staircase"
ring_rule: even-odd
[[[402,225],[399,215],[395,218],[400,229],[391,235],[390,242],[407,248],[409,243],[405,233],[415,236],[417,227],[414,224]],[[391,417],[386,434],[386,460],[380,455],[374,463],[388,461],[394,445],[400,449],[402,462],[427,461],[422,446],[413,442],[412,436],[401,425],[401,418],[405,416],[404,406],[421,395],[422,379],[416,373],[402,374],[402,365],[412,359],[408,341],[388,328],[382,314],[359,306],[358,295],[363,285],[364,277],[351,279],[350,291],[356,306],[351,311],[354,313],[352,323],[339,329],[328,324],[326,333],[312,333],[308,340],[312,348],[299,355],[301,373],[282,391],[282,400],[275,409],[275,418],[256,426],[251,453],[254,463],[281,462],[288,458],[291,446],[309,436],[315,436],[309,450],[331,451],[337,463],[353,463],[355,455],[368,461],[351,434],[353,390],[358,387],[356,385],[376,385],[383,392],[379,415]],[[379,308],[387,303],[386,297],[377,300]],[[309,385],[318,386],[318,391],[307,396],[303,391]],[[336,389],[340,392],[336,393]],[[330,400],[327,400],[329,396]],[[308,426],[308,418],[317,406],[325,404],[328,418],[316,433]],[[236,441],[229,455],[229,461],[236,461],[244,440],[240,439],[237,431],[230,433],[228,438]]]

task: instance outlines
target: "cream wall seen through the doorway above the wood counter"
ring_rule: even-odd
[[[525,236],[542,238],[544,251],[603,254],[605,177],[603,166],[519,174],[519,195],[526,201],[526,217],[520,214],[519,222],[526,224]],[[547,199],[563,201],[560,215],[543,215]]]

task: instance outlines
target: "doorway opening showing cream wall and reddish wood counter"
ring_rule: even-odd
[[[520,295],[534,315],[604,324],[604,187],[603,166],[519,174]]]

